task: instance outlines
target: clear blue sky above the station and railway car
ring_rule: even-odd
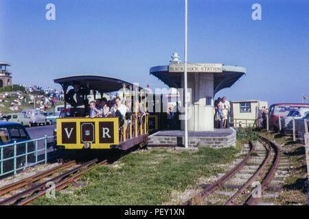
[[[247,68],[217,96],[229,100],[309,99],[309,1],[188,0],[188,62]],[[56,5],[56,21],[45,5]],[[262,21],[251,5],[260,3]],[[14,83],[102,74],[163,88],[149,75],[176,50],[183,60],[184,0],[0,0],[0,61]],[[308,100],[307,100],[308,103]]]

